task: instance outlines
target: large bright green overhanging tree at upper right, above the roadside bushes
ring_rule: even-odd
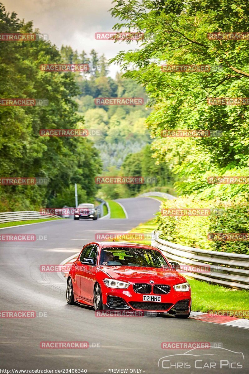
[[[178,140],[172,144],[168,138],[161,138],[163,129],[205,129],[214,135],[194,138],[194,143],[189,141],[189,147],[194,147],[193,164],[187,166],[180,160],[175,172],[181,171],[191,179],[194,169],[205,187],[208,169],[224,172],[246,167],[249,161],[248,106],[208,105],[207,102],[208,97],[248,96],[248,41],[209,40],[207,37],[211,32],[234,32],[238,27],[241,31],[247,30],[246,1],[235,0],[231,4],[228,0],[219,3],[191,0],[176,4],[172,0],[120,0],[115,1],[112,15],[121,20],[115,30],[133,27],[144,32],[139,49],[120,52],[111,62],[116,61],[124,69],[131,66],[125,76],[144,86],[154,100],[154,110],[147,124],[155,138],[156,158],[167,158],[170,148],[175,154],[179,151]],[[161,71],[162,64],[201,64],[210,66],[210,70],[165,73]],[[196,165],[200,154],[208,154],[206,169]],[[190,188],[186,190],[186,184],[179,182],[178,188],[183,193],[191,193]]]

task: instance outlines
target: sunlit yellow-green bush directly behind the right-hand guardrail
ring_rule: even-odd
[[[249,254],[248,240],[226,240],[224,234],[249,232],[249,203],[240,197],[236,202],[192,200],[183,197],[167,200],[160,209],[208,208],[208,216],[163,216],[158,212],[156,223],[162,239],[211,251]],[[208,234],[215,235],[212,240]],[[231,238],[230,238],[231,239]]]

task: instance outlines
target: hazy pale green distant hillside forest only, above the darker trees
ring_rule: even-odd
[[[131,79],[115,79],[108,76],[108,62],[104,55],[99,56],[93,49],[90,55],[78,53],[70,46],[62,46],[60,53],[65,62],[89,65],[87,73],[75,74],[80,95],[77,96],[78,113],[84,116],[87,129],[99,129],[100,136],[92,137],[100,152],[103,171],[109,167],[120,168],[125,157],[150,142],[149,131],[145,126],[149,107],[144,88]],[[145,104],[140,105],[96,105],[97,97],[142,97]]]

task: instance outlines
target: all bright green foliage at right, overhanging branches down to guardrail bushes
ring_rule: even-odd
[[[157,163],[168,163],[177,174],[178,193],[190,196],[194,205],[224,205],[229,211],[219,219],[210,218],[209,225],[203,223],[203,218],[177,221],[174,217],[159,216],[159,227],[167,240],[187,245],[198,243],[220,251],[230,251],[230,245],[231,251],[246,253],[246,242],[208,245],[203,238],[208,227],[215,232],[249,230],[248,183],[209,184],[207,179],[214,175],[246,177],[249,172],[248,105],[209,105],[207,100],[248,97],[248,39],[208,38],[208,33],[247,32],[248,3],[117,0],[113,4],[112,16],[119,18],[115,30],[144,33],[137,49],[121,51],[111,61],[125,69],[125,76],[140,83],[153,98],[152,112],[147,118],[154,138],[153,157]],[[161,70],[163,64],[209,68],[199,73],[165,72]],[[164,138],[161,131],[165,129],[203,129],[210,131],[211,136]],[[191,230],[193,233],[189,234]]]

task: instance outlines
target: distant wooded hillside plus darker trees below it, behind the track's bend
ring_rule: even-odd
[[[172,192],[174,175],[167,163],[155,165],[150,143],[152,139],[146,126],[151,112],[152,101],[145,89],[133,79],[123,78],[117,73],[115,79],[108,76],[109,64],[104,55],[95,50],[90,55],[84,51],[78,53],[70,46],[62,46],[60,53],[63,61],[85,63],[89,65],[86,73],[76,75],[80,89],[77,96],[78,113],[84,116],[87,129],[100,130],[100,136],[90,137],[102,159],[104,175],[141,175],[156,177],[156,183],[147,185],[100,186],[98,195],[103,198],[136,196],[136,194],[163,187]],[[94,104],[96,97],[142,97],[140,105],[103,105]]]

